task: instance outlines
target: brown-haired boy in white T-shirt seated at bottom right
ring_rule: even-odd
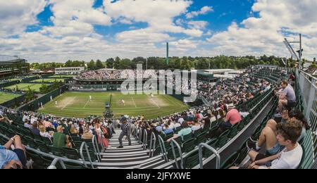
[[[250,169],[296,169],[301,163],[303,156],[302,146],[297,139],[302,132],[302,122],[291,120],[290,122],[281,122],[276,128],[278,132],[278,142],[285,149],[273,156],[266,156],[256,151],[250,151],[249,156],[253,163],[249,165]],[[237,167],[232,167],[237,169]]]

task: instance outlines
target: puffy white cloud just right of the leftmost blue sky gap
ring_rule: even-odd
[[[103,8],[92,8],[94,0],[50,0],[54,26],[44,27],[54,37],[70,35],[88,36],[94,32],[92,25],[111,25]]]

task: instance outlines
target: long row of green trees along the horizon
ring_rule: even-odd
[[[304,60],[305,61],[305,60]],[[136,69],[137,64],[141,63],[143,69],[243,69],[250,65],[258,64],[270,64],[279,65],[285,67],[282,58],[276,56],[215,56],[215,57],[171,57],[169,58],[169,64],[166,63],[166,58],[160,57],[137,57],[133,59],[129,58],[108,58],[106,61],[66,61],[66,63],[32,63],[30,67],[37,70],[54,70],[54,68],[63,67],[85,67],[88,70],[99,70],[102,68],[113,68],[113,69]],[[294,68],[297,63],[296,61],[289,58],[288,67]]]

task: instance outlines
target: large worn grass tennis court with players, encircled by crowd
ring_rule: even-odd
[[[158,116],[170,115],[171,113],[185,111],[188,107],[168,95],[155,95],[152,99],[148,95],[123,95],[120,92],[66,92],[58,96],[39,113],[48,113],[61,117],[85,118],[89,115],[103,115],[105,103],[111,99],[111,111],[115,117],[120,115],[138,116],[144,115],[147,119]],[[89,100],[92,96],[92,101]],[[125,101],[125,106],[121,102]],[[57,101],[57,106],[56,106]]]

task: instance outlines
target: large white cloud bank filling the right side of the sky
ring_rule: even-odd
[[[302,32],[304,56],[316,56],[316,0],[258,0],[252,7],[259,18],[247,18],[239,26],[232,23],[227,31],[217,32],[207,39],[213,45],[213,55],[275,55],[290,56],[282,41],[293,40]],[[285,34],[285,30],[291,34]],[[296,47],[296,46],[295,46]]]

